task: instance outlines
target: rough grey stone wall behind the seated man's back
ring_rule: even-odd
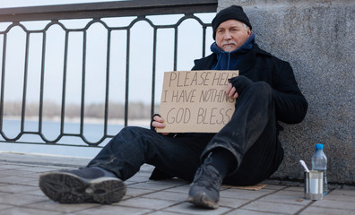
[[[309,109],[300,125],[284,125],[285,159],[273,175],[301,179],[315,144],[325,144],[328,181],[355,184],[355,1],[220,0],[243,6],[257,43],[290,62]]]

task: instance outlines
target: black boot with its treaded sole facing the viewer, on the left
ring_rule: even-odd
[[[119,202],[126,185],[113,173],[102,168],[80,168],[44,173],[39,187],[49,199],[61,203]]]

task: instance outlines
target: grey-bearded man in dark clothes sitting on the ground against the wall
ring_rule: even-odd
[[[283,159],[278,121],[300,123],[307,100],[290,64],[256,45],[240,6],[217,13],[212,30],[212,55],[195,60],[193,70],[239,70],[226,89],[235,112],[219,133],[155,133],[165,126],[156,115],[151,130],[122,129],[86,168],[41,175],[41,190],[56,202],[118,202],[123,181],[148,163],[155,167],[151,179],[192,182],[187,201],[215,209],[222,183],[255,185],[271,176]]]

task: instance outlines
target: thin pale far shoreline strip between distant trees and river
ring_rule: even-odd
[[[4,116],[4,120],[21,120],[21,116]],[[26,121],[39,121],[39,117],[35,116],[26,116],[25,117]],[[43,121],[46,122],[60,122],[60,117],[46,117],[43,118]],[[80,123],[80,117],[71,117],[71,118],[65,118],[65,123]],[[128,119],[128,125],[150,125],[151,120],[150,119]],[[85,117],[84,118],[84,124],[104,124],[104,119],[101,118],[93,118],[93,117]],[[125,125],[125,120],[124,119],[109,119],[108,118],[108,125]]]

